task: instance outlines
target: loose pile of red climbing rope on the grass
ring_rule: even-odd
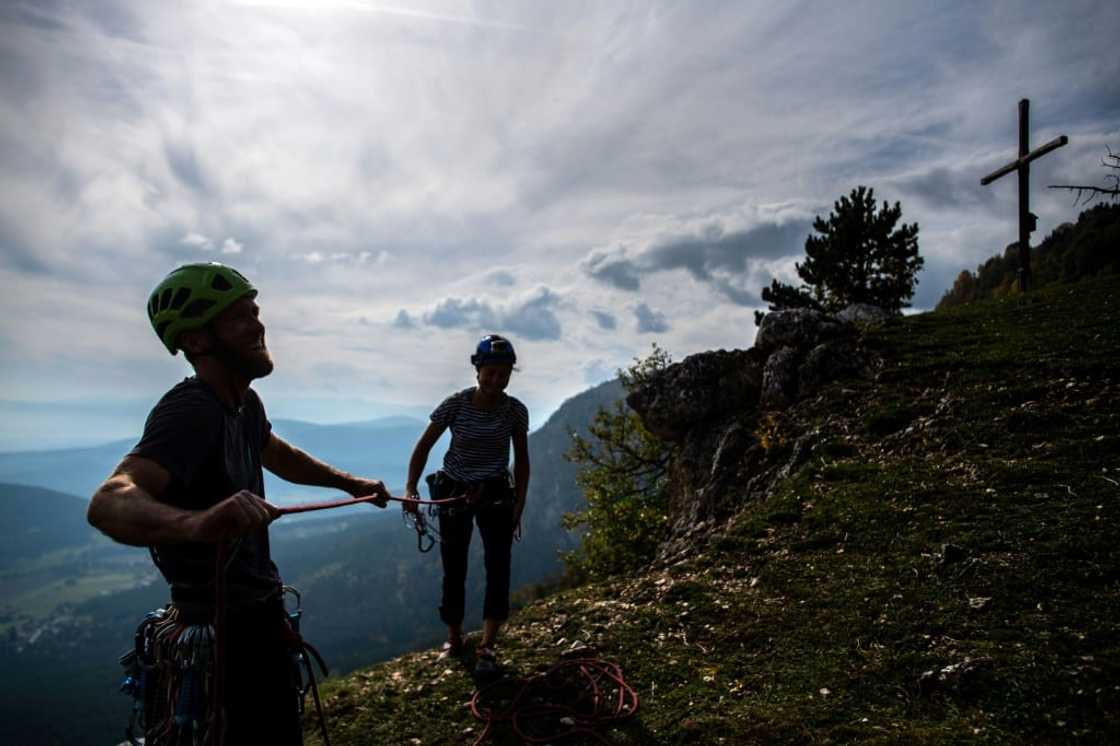
[[[609,661],[573,658],[529,679],[503,679],[479,689],[470,714],[485,724],[474,746],[491,737],[496,724],[513,728],[524,744],[556,743],[588,736],[607,744],[598,730],[637,714],[637,692]]]

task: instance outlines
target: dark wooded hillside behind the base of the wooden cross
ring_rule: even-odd
[[[1035,289],[1056,282],[1120,273],[1120,205],[1096,205],[1077,217],[1076,225],[1063,223],[1032,254]],[[977,268],[963,270],[937,302],[937,310],[1018,292],[1017,244]]]

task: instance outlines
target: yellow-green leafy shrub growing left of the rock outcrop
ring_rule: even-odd
[[[671,363],[653,346],[619,379],[633,391]],[[571,433],[564,458],[581,468],[576,482],[587,507],[564,515],[566,529],[584,530],[578,548],[563,556],[576,578],[603,578],[627,572],[653,559],[668,525],[666,468],[669,447],[643,427],[622,401],[600,408],[589,437]]]

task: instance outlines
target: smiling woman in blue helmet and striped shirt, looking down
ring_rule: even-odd
[[[529,410],[505,393],[517,356],[505,337],[487,335],[470,363],[478,385],[451,394],[431,413],[409,460],[405,496],[419,498],[417,487],[431,447],[450,428],[451,446],[444,468],[427,478],[432,498],[469,495],[465,503],[439,511],[440,559],[444,562],[439,616],[447,625],[442,655],[463,651],[463,616],[467,554],[474,523],[483,539],[486,597],[483,638],[476,650],[476,672],[497,671],[494,645],[502,623],[510,616],[510,559],[514,538],[521,538],[521,514],[529,489]],[[510,444],[513,444],[513,478]],[[405,510],[416,505],[405,503]]]

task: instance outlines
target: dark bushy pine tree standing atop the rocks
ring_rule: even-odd
[[[917,223],[896,227],[899,203],[875,205],[875,189],[860,186],[833,204],[828,220],[818,216],[805,240],[805,261],[797,274],[805,283],[794,288],[774,280],[763,289],[771,310],[818,308],[838,311],[851,304],[889,310],[909,306],[924,260],[917,251]],[[755,315],[756,323],[762,314]]]

